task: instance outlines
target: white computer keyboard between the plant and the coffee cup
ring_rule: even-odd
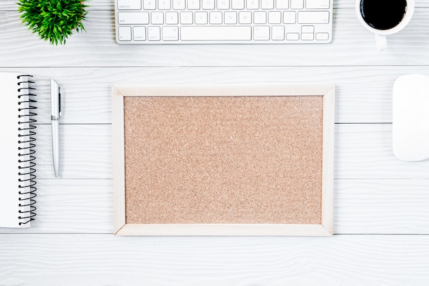
[[[327,43],[333,0],[114,0],[119,44]]]

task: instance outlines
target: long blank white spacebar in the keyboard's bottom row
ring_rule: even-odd
[[[182,41],[251,40],[250,26],[180,27]]]

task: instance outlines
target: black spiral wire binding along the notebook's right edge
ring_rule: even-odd
[[[36,147],[36,125],[33,125],[36,120],[32,118],[32,116],[36,116],[37,114],[34,112],[34,109],[37,109],[34,106],[34,103],[37,101],[34,99],[36,94],[33,94],[32,91],[36,90],[36,88],[32,88],[29,84],[34,83],[34,81],[30,81],[29,78],[32,75],[19,75],[18,78],[18,92],[20,95],[18,96],[19,105],[23,105],[23,107],[19,107],[19,125],[23,125],[23,127],[19,127],[19,225],[27,224],[34,220],[36,216],[36,163],[34,160],[36,159],[34,147]],[[21,114],[24,113],[24,114]],[[23,191],[21,191],[23,190]]]

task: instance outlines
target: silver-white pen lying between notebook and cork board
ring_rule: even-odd
[[[61,117],[61,89],[58,83],[51,79],[51,127],[52,127],[52,159],[53,171],[58,178],[60,168],[60,117]]]

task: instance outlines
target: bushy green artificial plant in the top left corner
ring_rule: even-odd
[[[73,31],[85,31],[82,21],[88,6],[82,0],[19,0],[16,4],[23,23],[51,44],[65,44]]]

